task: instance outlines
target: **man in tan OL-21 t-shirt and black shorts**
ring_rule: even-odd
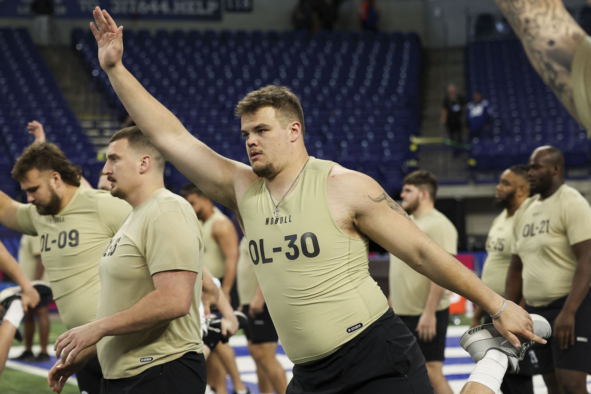
[[[528,162],[535,195],[514,218],[505,297],[553,326],[548,345],[532,347],[533,374],[550,394],[586,392],[591,373],[591,206],[564,184],[564,157],[539,147]]]

